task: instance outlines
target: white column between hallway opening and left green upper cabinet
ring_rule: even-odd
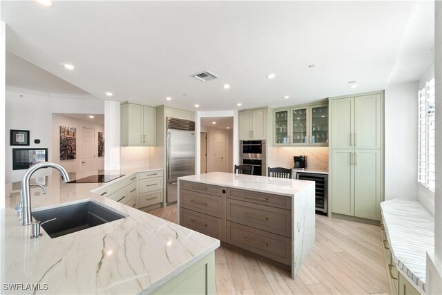
[[[104,169],[119,169],[120,159],[119,102],[104,102]]]

